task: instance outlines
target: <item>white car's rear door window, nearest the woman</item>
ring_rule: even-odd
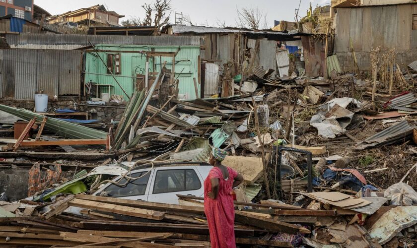
[[[168,193],[201,188],[194,170],[160,170],[156,173],[153,193]]]

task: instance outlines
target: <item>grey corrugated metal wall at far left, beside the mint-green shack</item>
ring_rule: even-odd
[[[66,50],[2,49],[1,98],[33,100],[35,91],[79,95],[81,52]]]

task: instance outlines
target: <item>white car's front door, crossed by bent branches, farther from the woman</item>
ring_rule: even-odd
[[[128,183],[126,183],[128,178],[123,178],[117,181],[118,184],[110,183],[103,190],[95,193],[95,195],[146,201],[152,171],[135,172],[128,176],[130,178]]]

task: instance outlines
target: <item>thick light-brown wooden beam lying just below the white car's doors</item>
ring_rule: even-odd
[[[116,198],[112,198],[112,199],[116,199]],[[79,198],[72,199],[69,202],[69,205],[74,206],[74,207],[83,207],[87,209],[111,212],[115,214],[122,214],[122,215],[134,216],[134,217],[151,219],[151,220],[162,220],[164,218],[163,212],[145,210],[141,208],[128,207],[128,206],[120,206],[120,205],[103,203],[103,202],[82,200]]]

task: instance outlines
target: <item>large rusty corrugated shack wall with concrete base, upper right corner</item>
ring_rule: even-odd
[[[404,68],[417,57],[417,4],[338,8],[334,53],[342,71],[354,71],[353,48],[361,70],[370,69],[370,53],[395,48],[396,62]]]

